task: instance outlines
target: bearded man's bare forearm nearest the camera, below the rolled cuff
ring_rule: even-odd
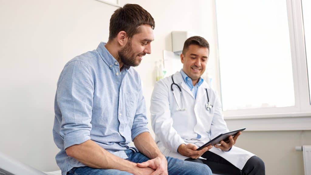
[[[92,168],[118,169],[131,173],[136,168],[136,163],[124,160],[101,148],[92,140],[76,144],[66,149],[68,156]]]

